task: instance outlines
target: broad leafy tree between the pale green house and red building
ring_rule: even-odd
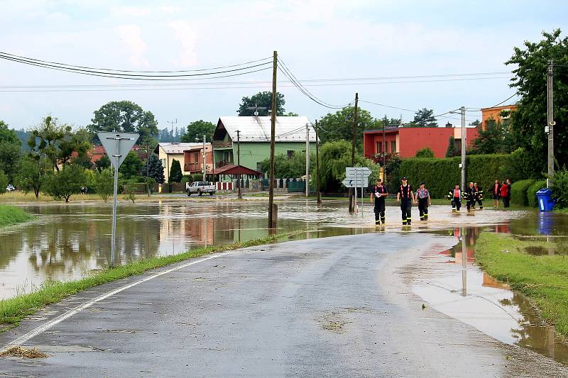
[[[337,140],[351,140],[353,138],[353,106],[348,106],[335,113],[327,113],[318,123],[320,128],[319,137],[322,143]],[[365,109],[357,109],[357,125],[355,143],[356,148],[362,150],[363,130],[380,129],[383,121],[371,116]]]

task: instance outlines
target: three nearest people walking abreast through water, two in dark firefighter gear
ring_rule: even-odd
[[[375,187],[371,189],[371,202],[375,202],[375,225],[380,226],[381,222],[385,224],[385,199],[388,196],[388,189],[381,179],[377,179]],[[400,187],[396,194],[397,201],[400,201],[400,211],[403,218],[403,226],[412,224],[412,207],[413,204],[418,205],[420,212],[420,221],[428,220],[428,206],[432,205],[430,192],[425,188],[425,182],[420,182],[420,188],[416,194],[413,187],[408,184],[408,179],[403,177]]]

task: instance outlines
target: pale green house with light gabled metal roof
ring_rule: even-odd
[[[275,155],[291,157],[306,150],[306,125],[310,153],[315,152],[315,130],[305,116],[277,116]],[[239,136],[237,137],[237,131]],[[240,140],[240,165],[262,172],[261,162],[271,155],[270,116],[227,116],[219,118],[213,135],[215,169],[237,164],[237,138]]]

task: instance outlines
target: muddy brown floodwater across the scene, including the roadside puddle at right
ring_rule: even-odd
[[[550,253],[564,253],[568,243],[568,217],[523,211],[478,211],[455,216],[449,206],[431,206],[430,221],[420,223],[417,214],[412,229],[401,229],[400,210],[387,206],[387,226],[375,228],[371,206],[365,204],[363,216],[349,215],[345,201],[295,200],[278,203],[278,232],[298,232],[292,238],[320,238],[367,232],[427,232],[454,235],[456,247],[433,251],[425,259],[437,261],[434,278],[443,287],[439,292],[431,284],[415,285],[415,292],[442,313],[459,318],[506,343],[531,348],[564,362],[568,349],[555,331],[540,321],[529,302],[474,265],[473,249],[466,254],[466,285],[459,264],[460,226],[466,229],[471,246],[483,229],[512,233],[519,238],[549,240]],[[106,267],[110,258],[110,204],[45,204],[22,206],[40,216],[38,221],[0,231],[0,299],[9,298],[38,287],[48,279],[77,279],[92,269]],[[142,257],[172,255],[207,245],[250,240],[267,235],[266,201],[241,203],[229,201],[187,200],[119,204],[116,228],[116,263]],[[417,212],[416,209],[414,209]],[[542,253],[542,250],[533,251]],[[438,264],[439,262],[439,264]],[[460,287],[461,285],[461,287]],[[449,289],[448,289],[449,288]],[[489,291],[488,293],[485,292]],[[479,291],[479,292],[477,292]],[[461,294],[465,293],[465,296]],[[458,298],[458,297],[459,298]],[[469,313],[461,311],[464,299],[478,301]],[[491,304],[491,306],[488,306]],[[487,308],[493,308],[493,312]],[[488,312],[486,312],[488,311]],[[500,311],[500,312],[499,312]],[[473,314],[478,313],[479,316]],[[496,313],[499,316],[496,316]],[[469,314],[469,315],[468,315]],[[488,315],[504,321],[474,321]],[[504,315],[503,315],[504,314]],[[491,325],[491,327],[488,327]]]

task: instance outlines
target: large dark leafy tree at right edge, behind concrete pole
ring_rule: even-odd
[[[514,48],[506,65],[515,65],[515,77],[510,84],[522,97],[511,114],[511,132],[515,145],[525,148],[534,157],[532,174],[545,172],[547,161],[547,62],[558,66],[554,74],[555,158],[557,167],[568,164],[568,38],[561,38],[559,29],[543,32],[544,39],[525,41],[523,48]]]

